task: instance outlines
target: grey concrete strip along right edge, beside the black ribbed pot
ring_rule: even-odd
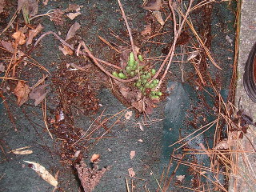
[[[256,41],[256,1],[246,0],[242,1],[241,11],[241,29],[240,29],[240,45],[238,55],[238,84],[236,90],[236,106],[242,106],[246,114],[249,114],[251,118],[256,119],[256,108],[255,103],[250,100],[246,91],[244,90],[242,83],[242,76],[244,74],[244,67],[246,60],[250,53],[251,47]],[[248,129],[246,137],[241,141],[241,150],[252,150],[250,142],[256,144],[255,127],[251,126]],[[250,140],[250,141],[249,141]],[[255,152],[255,151],[254,151]],[[229,191],[255,191],[256,189],[256,155],[255,154],[238,154],[238,174],[233,175],[230,178],[230,189]]]

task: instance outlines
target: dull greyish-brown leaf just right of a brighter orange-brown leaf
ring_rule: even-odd
[[[48,86],[48,84],[38,86],[34,88],[34,90],[31,90],[30,98],[34,99],[34,106],[38,106],[38,104],[46,98],[46,94],[49,93],[49,90],[46,90],[46,86]]]

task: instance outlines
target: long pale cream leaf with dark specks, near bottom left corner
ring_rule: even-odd
[[[52,186],[58,186],[58,181],[54,178],[53,175],[51,175],[48,170],[44,166],[41,166],[37,162],[29,162],[24,161],[30,164],[31,168],[38,173],[38,175],[45,180],[46,182],[50,183]]]

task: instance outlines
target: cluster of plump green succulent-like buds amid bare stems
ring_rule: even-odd
[[[143,61],[142,55],[138,55],[138,60],[140,62]],[[112,74],[114,75],[114,77],[126,79],[127,76],[133,78],[139,72],[140,76],[137,82],[134,83],[134,86],[141,90],[142,94],[148,95],[151,99],[159,99],[159,97],[162,96],[162,92],[154,91],[154,88],[158,86],[159,80],[151,79],[154,74],[156,74],[156,70],[144,70],[143,68],[144,66],[139,65],[139,63],[135,61],[134,53],[130,52],[125,73],[118,73],[117,71],[114,71]]]

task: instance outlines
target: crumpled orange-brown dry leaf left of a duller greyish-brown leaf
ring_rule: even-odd
[[[14,89],[14,94],[17,97],[18,106],[22,106],[22,104],[29,98],[30,86],[26,85],[23,81],[18,81],[18,84]]]

